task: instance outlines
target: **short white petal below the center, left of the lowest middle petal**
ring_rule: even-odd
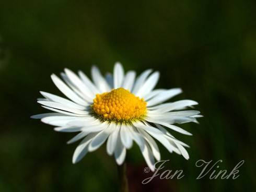
[[[109,136],[108,141],[107,141],[107,153],[109,155],[112,155],[115,147],[117,146],[117,140],[119,137],[119,130],[120,130],[120,125],[117,125],[115,123],[112,123],[112,125],[114,127],[114,131],[113,133]]]

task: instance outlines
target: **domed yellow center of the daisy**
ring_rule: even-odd
[[[131,122],[145,116],[146,105],[144,99],[136,97],[126,89],[118,88],[96,94],[91,108],[103,120]]]

